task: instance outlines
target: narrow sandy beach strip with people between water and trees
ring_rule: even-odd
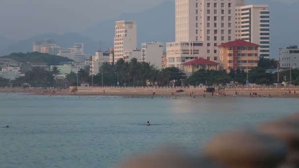
[[[104,92],[105,90],[105,92]],[[183,89],[176,93],[174,88],[85,88],[71,92],[70,89],[45,88],[0,88],[2,93],[28,93],[32,95],[73,95],[73,96],[124,96],[124,97],[269,97],[269,98],[299,98],[299,89],[222,89],[214,94],[205,92],[205,89]],[[294,94],[296,91],[296,94]],[[237,94],[236,94],[237,93]],[[250,94],[251,93],[251,94]],[[257,93],[252,96],[253,93]],[[191,94],[191,95],[190,95]]]

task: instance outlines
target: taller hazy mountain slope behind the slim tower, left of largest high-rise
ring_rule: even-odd
[[[94,40],[101,39],[109,42],[108,48],[113,46],[115,34],[115,22],[119,20],[133,20],[137,23],[138,44],[143,42],[171,42],[175,39],[175,4],[173,1],[165,1],[157,7],[150,8],[140,13],[123,14],[116,20],[106,20],[87,28],[80,34]],[[140,47],[140,46],[139,46]]]

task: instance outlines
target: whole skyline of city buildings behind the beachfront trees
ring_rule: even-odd
[[[99,42],[98,51],[94,51],[95,55],[90,55],[85,53],[83,43],[64,48],[59,46],[55,39],[40,39],[33,43],[31,52],[62,56],[70,60],[56,65],[36,61],[27,62],[25,65],[31,63],[33,67],[41,66],[50,71],[53,66],[58,66],[60,73],[57,75],[60,79],[66,79],[71,72],[77,74],[81,69],[86,69],[90,76],[95,76],[101,72],[104,62],[115,65],[120,59],[130,62],[132,58],[136,58],[138,62],[147,62],[157,70],[177,67],[186,77],[201,69],[225,70],[227,73],[239,69],[248,73],[251,69],[259,67],[260,60],[271,59],[272,62],[268,61],[268,66],[262,67],[267,68],[265,72],[279,74],[288,69],[294,69],[294,73],[296,72],[299,64],[297,45],[280,48],[279,58],[275,60],[276,66],[273,66],[274,60],[270,57],[269,50],[269,5],[247,5],[245,0],[205,3],[198,0],[177,0],[175,9],[174,42],[138,43],[138,23],[116,21],[114,39],[111,39],[114,46],[108,49],[102,49]],[[138,48],[140,46],[141,48]],[[24,68],[23,65],[24,62],[4,56],[0,58],[0,76],[9,80],[22,77],[30,70],[28,66]],[[294,74],[293,81],[299,81],[297,77],[298,73]],[[277,84],[284,82],[286,85],[290,84],[287,82],[292,82],[291,78],[284,74],[282,80],[277,77],[275,81]]]

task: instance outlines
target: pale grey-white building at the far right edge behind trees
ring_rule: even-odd
[[[280,49],[279,64],[281,68],[299,68],[299,48],[290,46]]]

